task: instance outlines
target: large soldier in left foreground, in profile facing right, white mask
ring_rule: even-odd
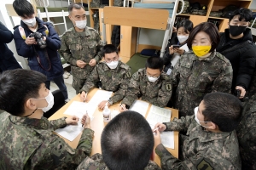
[[[0,76],[0,168],[74,169],[90,155],[94,132],[84,116],[84,131],[77,149],[54,134],[57,128],[77,124],[79,117],[48,121],[54,98],[45,88],[46,77],[38,71],[5,71]]]

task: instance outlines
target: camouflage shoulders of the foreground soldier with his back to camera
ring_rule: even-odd
[[[160,170],[161,168],[154,162],[149,161],[147,167],[144,170]],[[105,162],[103,161],[101,154],[95,154],[87,157],[79,165],[77,170],[109,170]]]

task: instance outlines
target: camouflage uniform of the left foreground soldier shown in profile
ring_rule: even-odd
[[[84,129],[77,149],[52,133],[65,127],[55,121],[0,115],[0,169],[74,169],[90,155],[93,131]]]

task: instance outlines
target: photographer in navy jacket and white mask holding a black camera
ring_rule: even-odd
[[[26,0],[15,0],[15,12],[20,16],[20,26],[15,26],[14,39],[17,53],[28,58],[31,70],[39,71],[47,77],[46,88],[50,81],[60,88],[68,101],[67,87],[64,83],[63,67],[57,50],[61,40],[50,23],[35,17],[32,4]]]

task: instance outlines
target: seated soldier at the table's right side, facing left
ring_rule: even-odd
[[[195,115],[157,123],[159,131],[186,131],[180,134],[179,159],[160,144],[160,132],[154,137],[155,153],[162,169],[241,169],[235,128],[241,119],[241,102],[226,93],[207,94]]]

